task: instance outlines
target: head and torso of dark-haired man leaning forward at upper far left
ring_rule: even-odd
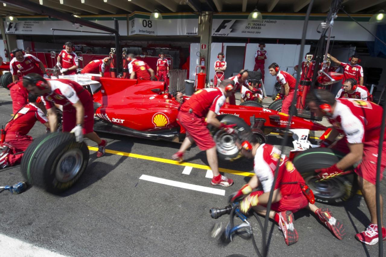
[[[17,76],[18,71],[20,71],[22,76],[29,73],[37,73],[48,78],[46,68],[44,68],[43,63],[34,55],[25,54],[24,50],[17,48],[12,51],[12,56],[14,56],[14,58],[12,58],[9,63],[9,68],[12,73],[13,82],[19,79]]]

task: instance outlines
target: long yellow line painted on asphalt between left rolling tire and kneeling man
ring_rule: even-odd
[[[98,148],[93,147],[93,146],[88,146],[88,149],[91,151],[98,151]],[[114,150],[109,150],[109,149],[106,149],[106,153],[111,153],[113,155],[127,156],[127,157],[131,157],[131,158],[148,160],[148,161],[157,161],[157,162],[161,162],[161,163],[168,163],[168,164],[179,165],[179,166],[189,166],[189,167],[198,168],[198,169],[205,170],[205,171],[210,170],[210,167],[207,165],[201,165],[201,164],[196,164],[196,163],[186,163],[186,162],[179,163],[178,161],[174,161],[174,160],[158,158],[158,157],[153,157],[153,156],[147,156],[147,155],[138,155],[136,153],[126,153],[126,152],[114,151]],[[252,177],[255,175],[254,173],[251,173],[251,172],[240,171],[240,170],[230,170],[230,169],[224,169],[224,168],[218,168],[218,171],[230,173],[230,174],[234,174],[234,175],[240,175],[240,176]]]

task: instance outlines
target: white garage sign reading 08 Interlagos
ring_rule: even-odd
[[[133,12],[129,15],[129,35],[196,36],[198,15],[193,13],[164,13],[162,20],[150,20],[150,13]]]

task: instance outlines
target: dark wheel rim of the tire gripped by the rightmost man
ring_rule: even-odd
[[[311,188],[316,198],[341,198],[346,193],[344,181],[339,178],[317,182],[315,176],[309,175],[305,178],[306,184]]]

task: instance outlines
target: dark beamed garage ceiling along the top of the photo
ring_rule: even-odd
[[[27,1],[27,0],[26,0]],[[311,0],[28,0],[60,12],[78,15],[127,14],[134,11],[172,12],[251,12],[305,13]],[[1,2],[1,0],[0,0]],[[349,13],[373,14],[386,9],[385,0],[343,0]],[[331,0],[315,0],[313,13],[326,13]],[[0,4],[0,15],[41,15],[15,5]]]

